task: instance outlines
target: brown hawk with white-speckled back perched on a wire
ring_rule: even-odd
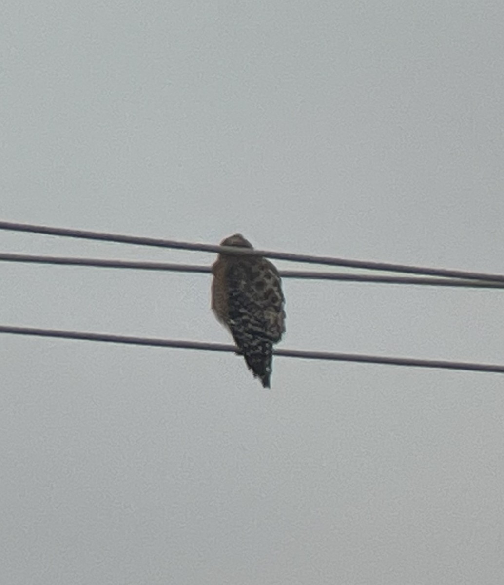
[[[253,246],[241,233],[220,246]],[[285,332],[285,298],[275,266],[263,256],[220,252],[212,265],[212,309],[229,329],[248,369],[270,388],[273,344]]]

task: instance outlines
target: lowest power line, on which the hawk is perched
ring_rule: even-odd
[[[80,339],[105,343],[125,343],[128,345],[143,345],[154,347],[177,347],[179,349],[198,349],[212,352],[236,353],[236,347],[222,343],[206,343],[173,339],[140,338],[123,335],[109,335],[106,333],[86,333],[80,331],[58,331],[57,329],[38,329],[33,327],[16,327],[0,325],[0,333],[13,335],[31,335],[59,339]],[[336,362],[359,362],[386,364],[388,366],[409,366],[436,368],[444,370],[483,371],[487,373],[504,374],[504,366],[498,364],[481,364],[470,362],[448,362],[445,360],[420,360],[412,357],[367,356],[354,353],[312,352],[298,349],[277,349],[274,352],[278,357],[297,357],[309,360],[330,360]]]

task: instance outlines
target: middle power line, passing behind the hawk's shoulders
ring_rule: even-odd
[[[106,260],[98,258],[77,258],[64,256],[36,256],[33,254],[0,253],[0,261],[32,264],[56,264],[61,266],[86,266],[94,268],[192,272],[201,274],[208,274],[211,272],[210,266],[201,266],[197,264],[173,264],[166,262],[149,262],[138,260]],[[421,278],[410,276],[370,276],[368,274],[346,274],[305,270],[280,270],[279,273],[282,278],[300,278],[306,280],[337,280],[358,283],[410,284],[442,287],[504,288],[504,283],[500,283],[498,281],[485,282],[479,280],[461,280],[436,277]]]

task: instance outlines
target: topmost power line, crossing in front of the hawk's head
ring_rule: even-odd
[[[85,230],[52,228],[49,226],[30,225],[27,223],[0,222],[0,229],[13,230],[17,232],[41,233],[50,236],[64,236],[65,238],[81,238],[88,240],[99,240],[102,242],[117,242],[134,244],[139,246],[156,246],[179,250],[194,250],[199,252],[226,252],[229,254],[242,254],[245,256],[267,256],[276,260],[289,262],[304,262],[309,264],[325,264],[326,266],[346,266],[348,268],[359,268],[364,270],[381,270],[387,272],[402,272],[409,274],[423,274],[426,276],[440,276],[446,278],[464,278],[467,280],[492,280],[504,282],[504,274],[485,274],[464,270],[434,269],[420,266],[409,266],[407,264],[392,264],[386,262],[375,262],[365,260],[350,260],[331,256],[313,256],[310,254],[295,254],[290,252],[272,252],[270,250],[249,250],[236,247],[222,247],[213,244],[202,244],[194,242],[177,242],[175,240],[164,240],[158,238],[142,238],[140,236],[127,236],[112,233],[89,232]]]

